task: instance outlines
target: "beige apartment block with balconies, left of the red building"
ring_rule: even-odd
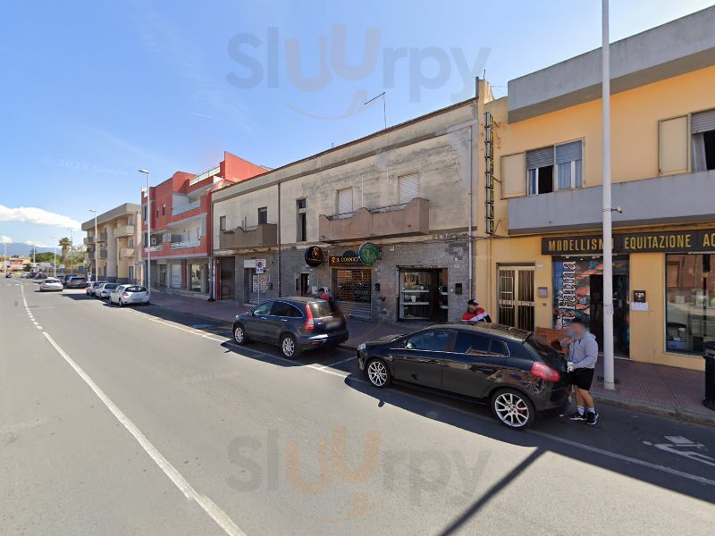
[[[140,212],[139,205],[124,203],[104,214],[97,214],[97,234],[94,218],[82,223],[82,230],[87,232],[84,243],[87,246],[88,274],[92,279],[97,273],[101,281],[139,282]]]

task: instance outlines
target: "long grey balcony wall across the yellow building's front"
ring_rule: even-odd
[[[611,188],[613,226],[712,222],[715,170],[616,182]],[[576,188],[513,197],[508,201],[509,234],[594,229],[602,222],[602,188]]]

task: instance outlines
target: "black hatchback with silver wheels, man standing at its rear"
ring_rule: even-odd
[[[375,387],[415,383],[492,406],[499,421],[523,430],[537,413],[568,402],[566,360],[531,331],[492,323],[447,323],[357,347]]]

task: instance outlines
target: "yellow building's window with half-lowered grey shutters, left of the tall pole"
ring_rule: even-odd
[[[583,142],[572,141],[526,153],[526,192],[529,196],[584,185]]]

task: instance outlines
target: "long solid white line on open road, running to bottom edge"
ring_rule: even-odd
[[[55,339],[53,339],[49,333],[45,331],[43,332],[43,335],[45,335],[49,343],[55,348],[55,350],[57,350],[57,353],[63,357],[67,364],[74,369],[74,372],[76,372],[88,385],[89,389],[94,391],[97,398],[99,398],[107,409],[112,412],[112,415],[116,417],[117,421],[122,423],[124,428],[126,428],[127,431],[134,436],[134,439],[139,442],[141,448],[144,448],[147,455],[154,460],[156,465],[158,465],[162,471],[164,471],[164,474],[169,477],[173,484],[181,490],[184,497],[189,500],[195,500],[198,506],[201,507],[226,534],[229,534],[230,536],[245,536],[245,532],[241,531],[238,525],[233,523],[231,518],[226,515],[226,513],[223,512],[223,510],[218,507],[214,501],[211,500],[211,498],[208,498],[206,495],[201,495],[191,486],[191,484],[189,484],[183,475],[181,475],[181,473],[176,470],[176,468],[156,449],[156,447],[149,440],[147,440],[147,437],[134,423],[130,421],[129,417],[122,413],[122,410],[120,410],[119,407],[117,407],[114,402],[105,395],[102,389],[99,389],[97,383],[95,383],[88,376],[88,374],[80,368],[80,365],[76,364],[71,357],[68,356],[62,348],[60,348],[60,346],[55,342]]]

